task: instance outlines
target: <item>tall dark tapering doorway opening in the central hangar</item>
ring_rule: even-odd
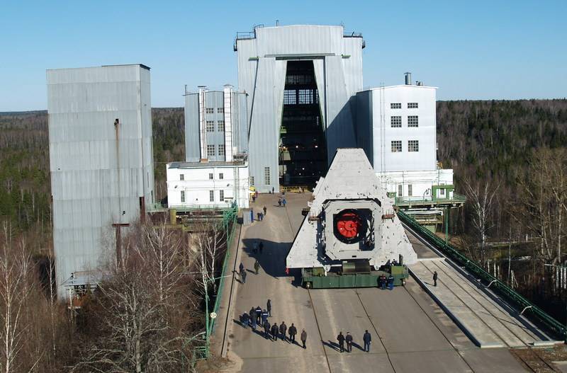
[[[313,60],[288,61],[279,144],[281,185],[315,185],[327,171],[327,143]]]

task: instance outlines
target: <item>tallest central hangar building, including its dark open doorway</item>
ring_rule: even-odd
[[[250,184],[313,185],[338,147],[355,147],[362,35],[342,26],[255,27],[238,33],[238,84],[248,93]]]

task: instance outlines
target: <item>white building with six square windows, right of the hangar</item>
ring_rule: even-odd
[[[357,93],[357,144],[398,207],[431,210],[457,197],[453,170],[437,162],[436,91],[406,73],[405,84]]]

